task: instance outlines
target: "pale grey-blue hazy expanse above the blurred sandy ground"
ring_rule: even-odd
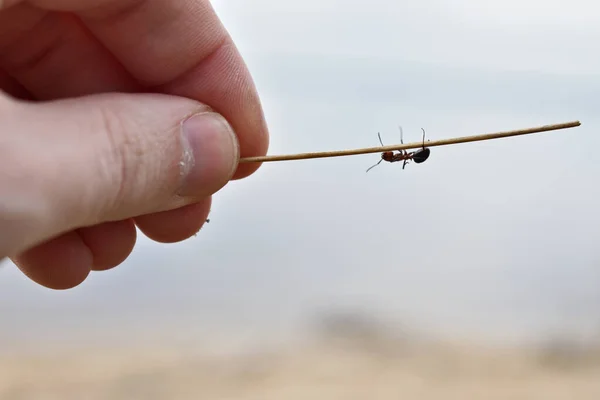
[[[247,333],[355,306],[504,341],[600,331],[591,1],[213,4],[255,77],[271,154],[375,146],[377,132],[393,144],[398,125],[405,141],[421,127],[436,140],[582,126],[434,147],[404,171],[366,174],[377,154],[264,164],[215,196],[197,237],[140,237],[122,267],[75,290],[3,268],[0,336]]]

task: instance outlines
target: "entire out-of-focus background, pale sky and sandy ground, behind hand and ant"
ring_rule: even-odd
[[[55,292],[0,268],[1,399],[598,398],[600,13],[584,0],[213,1],[270,154],[180,244]],[[455,397],[453,397],[455,396]]]

